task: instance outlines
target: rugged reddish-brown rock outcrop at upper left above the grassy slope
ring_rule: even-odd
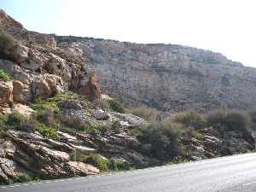
[[[64,90],[77,91],[91,100],[101,96],[96,74],[82,61],[82,50],[75,44],[57,46],[54,37],[27,31],[2,9],[0,27],[15,38],[9,39],[14,44],[12,52],[0,58],[0,68],[14,79],[15,102],[48,98]]]

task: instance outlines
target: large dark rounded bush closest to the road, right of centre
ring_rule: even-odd
[[[137,138],[143,143],[142,152],[148,156],[169,160],[177,155],[177,132],[161,122],[142,127]]]

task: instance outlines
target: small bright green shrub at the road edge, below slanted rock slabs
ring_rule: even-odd
[[[100,154],[90,154],[86,160],[84,160],[84,163],[96,166],[103,172],[108,171],[108,160],[104,159]]]

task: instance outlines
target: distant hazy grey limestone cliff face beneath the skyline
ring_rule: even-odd
[[[128,104],[166,111],[253,108],[256,69],[224,55],[175,44],[131,44],[94,38],[76,42],[96,69],[102,91]]]

